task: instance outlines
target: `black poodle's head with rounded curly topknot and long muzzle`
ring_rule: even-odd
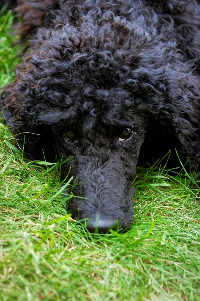
[[[73,218],[88,219],[90,231],[131,224],[132,181],[149,120],[151,136],[158,119],[165,130],[178,131],[180,112],[189,108],[190,92],[181,83],[187,72],[171,63],[171,48],[119,19],[46,31],[19,67],[8,97],[12,130],[29,132],[25,150],[31,158],[43,149],[53,155],[53,145],[62,161],[72,157],[61,172],[65,178],[71,170],[74,181],[67,207]],[[184,124],[182,140],[189,126]],[[23,135],[19,140],[23,145]]]

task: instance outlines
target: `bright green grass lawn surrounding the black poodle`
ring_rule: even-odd
[[[13,79],[12,15],[0,17],[0,85]],[[138,168],[125,234],[71,220],[60,165],[30,162],[0,124],[0,300],[200,300],[200,213],[193,175]]]

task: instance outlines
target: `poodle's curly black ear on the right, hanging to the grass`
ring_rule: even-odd
[[[197,74],[188,71],[186,64],[180,64],[176,69],[172,65],[166,69],[165,82],[160,81],[160,86],[159,81],[154,86],[151,82],[149,126],[140,153],[142,163],[154,163],[176,149],[183,162],[189,158],[192,166],[199,168],[200,81]],[[149,149],[147,153],[146,149]],[[172,161],[176,157],[175,154]]]

